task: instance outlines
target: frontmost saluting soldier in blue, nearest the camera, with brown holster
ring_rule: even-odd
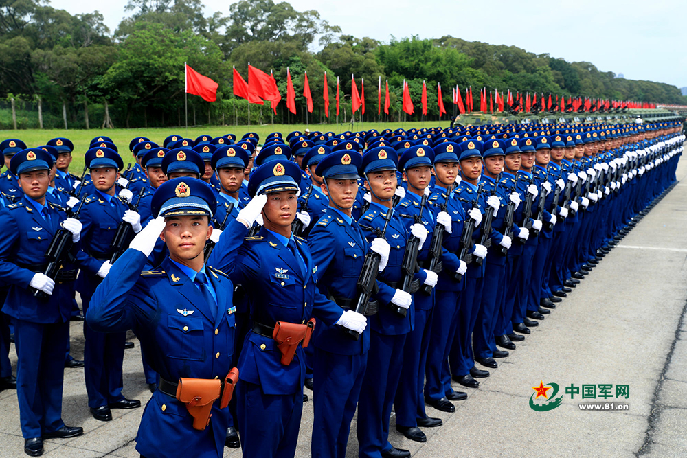
[[[234,287],[203,257],[215,205],[214,192],[203,181],[184,177],[163,183],[153,196],[155,220],[113,264],[86,314],[98,332],[133,329],[160,374],[136,437],[144,457],[223,456],[229,420],[223,395],[234,385],[227,376],[234,360]],[[169,256],[144,271],[158,238]],[[227,249],[236,250],[238,243]],[[198,397],[209,410],[194,409]]]

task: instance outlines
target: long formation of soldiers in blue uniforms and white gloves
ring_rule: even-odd
[[[75,291],[89,409],[122,395],[126,332],[153,397],[143,457],[409,457],[671,186],[679,123],[0,143],[0,389],[25,453],[61,417]],[[76,308],[78,310],[78,308]],[[16,379],[8,352],[18,356]]]

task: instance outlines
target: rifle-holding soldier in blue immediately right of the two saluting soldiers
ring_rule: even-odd
[[[341,150],[327,154],[317,165],[315,173],[322,176],[329,206],[308,236],[319,290],[347,313],[358,301],[357,278],[365,255],[370,249],[379,253],[383,270],[390,251],[381,238],[368,247],[362,229],[351,216],[361,163],[357,152]],[[396,290],[379,280],[377,285],[379,292],[373,299],[388,304]],[[352,340],[339,326],[319,323],[313,343],[315,421],[311,453],[318,458],[343,458],[367,365],[370,330],[365,328],[358,340]]]

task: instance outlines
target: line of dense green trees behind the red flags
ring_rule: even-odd
[[[251,65],[273,70],[286,94],[286,68],[296,93],[297,114],[278,106],[275,122],[304,122],[304,72],[308,72],[315,111],[311,122],[326,121],[322,84],[328,74],[330,106],[340,77],[341,117],[350,118],[352,74],[365,80],[365,119],[376,121],[377,84],[390,87],[390,115],[401,116],[403,80],[416,105],[427,82],[428,116],[436,119],[437,83],[449,115],[451,88],[473,87],[499,92],[687,104],[677,87],[616,78],[590,62],[567,62],[515,46],[464,41],[453,36],[391,38],[381,43],[341,33],[316,10],[296,11],[289,3],[242,0],[227,14],[205,16],[201,0],[129,0],[117,29],[104,25],[102,14],[69,14],[44,0],[10,0],[0,5],[0,99],[14,99],[25,116],[38,100],[48,124],[83,127],[104,120],[104,108],[116,127],[177,126],[183,123],[183,62],[218,82],[218,101],[189,97],[190,124],[269,122],[269,107],[253,108],[234,100],[232,66],[244,78]],[[313,50],[316,49],[316,50]],[[464,93],[463,93],[464,94]],[[0,103],[5,127],[8,104]],[[4,109],[3,109],[4,108]],[[3,113],[4,112],[4,113]],[[416,113],[419,113],[416,110]],[[334,122],[330,107],[330,122]],[[413,120],[420,120],[419,114]],[[343,121],[343,119],[341,119]],[[20,123],[21,124],[21,123]],[[30,123],[28,123],[30,124]],[[22,124],[23,125],[23,124]]]

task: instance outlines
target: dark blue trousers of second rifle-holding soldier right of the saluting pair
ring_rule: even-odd
[[[403,367],[403,347],[407,334],[386,336],[370,332],[368,368],[358,400],[358,456],[381,458],[392,450],[389,419]]]

